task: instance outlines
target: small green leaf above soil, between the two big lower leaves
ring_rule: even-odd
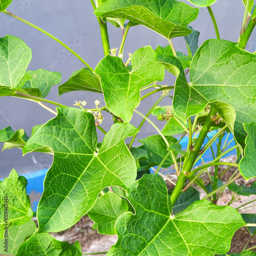
[[[116,234],[116,220],[128,209],[126,200],[121,199],[115,193],[108,192],[104,196],[98,197],[96,204],[88,211],[88,215],[97,223],[100,234]]]

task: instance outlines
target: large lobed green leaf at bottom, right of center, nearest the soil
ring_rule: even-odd
[[[172,215],[166,184],[158,175],[144,175],[127,190],[136,215],[126,212],[116,221],[118,241],[109,255],[172,256],[226,253],[234,232],[245,225],[230,206],[197,201]]]

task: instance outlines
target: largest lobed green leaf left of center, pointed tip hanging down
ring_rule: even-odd
[[[58,115],[42,125],[23,152],[47,147],[54,160],[37,208],[39,231],[58,232],[74,225],[108,186],[126,188],[136,178],[136,163],[124,139],[138,130],[116,123],[97,148],[95,119],[75,108],[58,108]]]

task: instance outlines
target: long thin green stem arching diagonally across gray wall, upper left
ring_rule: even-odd
[[[42,32],[42,33],[44,33],[44,34],[50,36],[52,39],[54,39],[55,41],[57,41],[60,45],[62,45],[62,46],[65,47],[67,50],[69,50],[71,53],[73,53],[79,60],[81,60],[81,61],[83,62],[84,65],[87,66],[87,68],[88,68],[89,70],[91,70],[92,72],[94,72],[93,68],[92,68],[84,59],[82,59],[82,57],[80,57],[80,56],[79,56],[76,52],[74,52],[70,47],[68,47],[67,45],[65,45],[62,41],[60,41],[58,38],[56,38],[56,37],[53,36],[52,34],[46,32],[45,30],[43,30],[43,29],[37,27],[36,25],[34,25],[34,24],[28,22],[27,20],[18,17],[17,15],[15,15],[15,14],[13,14],[13,13],[11,13],[11,12],[8,12],[8,11],[6,11],[6,10],[3,11],[3,12],[6,13],[6,14],[8,14],[8,15],[10,15],[10,16],[12,16],[12,17],[14,17],[14,18],[16,18],[16,19],[18,19],[18,20],[20,20],[21,22],[24,22],[24,23],[26,23],[27,25],[29,25],[29,26],[31,26],[31,27],[33,27],[33,28],[39,30],[40,32]]]

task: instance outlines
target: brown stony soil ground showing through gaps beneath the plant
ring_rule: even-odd
[[[228,161],[228,162],[236,162],[235,157],[228,157],[225,159],[222,159],[222,161]],[[219,173],[223,172],[223,170],[227,166],[221,165],[219,167]],[[214,172],[214,168],[210,167],[209,173],[212,175]],[[223,176],[222,181],[225,183],[229,177],[236,171],[236,167],[231,167]],[[172,179],[174,182],[176,182],[177,177],[174,174],[167,174],[166,175],[169,179]],[[204,173],[200,176],[205,181],[205,184],[209,182],[208,175]],[[249,180],[249,182],[246,182],[244,178],[240,177],[236,183],[238,185],[246,185],[250,186],[255,179]],[[169,183],[168,181],[167,187],[168,189],[172,188],[173,185]],[[196,187],[198,190],[200,190],[198,187]],[[200,198],[204,197],[206,194],[203,190],[200,190]],[[226,205],[230,199],[231,199],[231,192],[227,188],[224,190],[224,193],[222,194],[221,198],[218,201],[218,205]],[[231,204],[232,207],[236,208],[239,205],[244,204],[245,202],[249,202],[253,199],[256,199],[256,195],[252,195],[250,197],[246,196],[237,196],[236,202],[233,202]],[[253,205],[253,203],[252,203]],[[241,210],[240,213],[256,213],[256,206]],[[61,231],[58,233],[52,233],[52,235],[60,240],[60,241],[67,241],[69,243],[75,243],[77,240],[81,244],[82,252],[83,253],[94,253],[94,252],[101,252],[101,251],[108,251],[110,247],[116,243],[117,236],[104,236],[102,234],[99,234],[97,230],[92,230],[91,226],[93,225],[93,222],[89,219],[89,217],[82,217],[81,220],[76,223],[73,227]],[[250,233],[248,232],[248,229],[246,227],[242,227],[239,230],[236,231],[236,233],[233,236],[232,242],[231,242],[231,249],[229,253],[231,252],[241,252],[243,248],[245,247],[246,243],[248,242],[248,239],[250,238]],[[246,248],[250,248],[252,246],[256,245],[256,236],[253,236],[250,238],[250,242],[248,243]],[[252,249],[256,251],[255,249]],[[92,254],[90,254],[93,256]],[[104,254],[98,254],[98,255],[105,255]]]

